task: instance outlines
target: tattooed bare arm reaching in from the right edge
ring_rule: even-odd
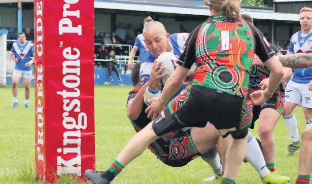
[[[312,54],[287,54],[278,56],[283,66],[306,68],[312,66]]]

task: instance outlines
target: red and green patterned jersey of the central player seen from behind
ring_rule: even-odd
[[[190,68],[197,60],[192,85],[248,98],[254,53],[262,61],[274,55],[260,30],[223,14],[211,16],[190,34],[178,64]]]

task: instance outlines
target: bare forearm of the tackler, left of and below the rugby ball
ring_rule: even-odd
[[[130,120],[136,120],[138,116],[140,116],[143,103],[144,103],[144,93],[147,85],[143,85],[141,89],[137,92],[133,101],[127,108],[127,116]]]

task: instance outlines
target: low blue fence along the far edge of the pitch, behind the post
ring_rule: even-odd
[[[118,69],[119,73],[121,73],[121,69]],[[121,74],[121,80],[118,81],[118,78],[115,72],[112,72],[113,81],[110,85],[124,85],[124,86],[131,86],[131,76]],[[95,68],[94,69],[94,84],[95,85],[102,85],[107,82],[110,82],[109,73],[107,68]],[[7,84],[12,84],[12,77],[7,77]],[[19,84],[23,84],[23,79],[20,80]],[[31,85],[34,85],[34,79],[31,80]]]

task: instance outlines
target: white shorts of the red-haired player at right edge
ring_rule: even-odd
[[[312,108],[312,91],[309,91],[308,84],[298,84],[290,80],[285,89],[285,102]]]

